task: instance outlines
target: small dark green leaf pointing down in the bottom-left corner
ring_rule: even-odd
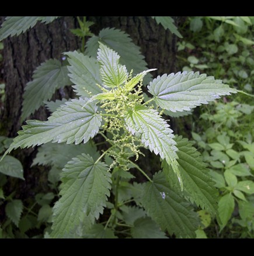
[[[14,199],[7,203],[5,206],[5,213],[12,220],[12,222],[18,227],[19,220],[23,210],[22,200]]]

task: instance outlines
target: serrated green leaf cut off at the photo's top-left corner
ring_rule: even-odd
[[[34,27],[39,20],[48,24],[57,18],[58,16],[8,16],[0,29],[0,41],[8,36],[18,36],[25,33],[26,30]]]

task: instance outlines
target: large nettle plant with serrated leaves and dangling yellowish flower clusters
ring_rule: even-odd
[[[44,144],[34,164],[48,161],[59,171],[67,151],[72,154],[60,173],[60,199],[44,237],[196,237],[201,224],[194,207],[218,217],[217,189],[201,155],[190,141],[173,134],[162,114],[188,112],[237,91],[206,74],[178,72],[149,82],[149,98],[142,92],[143,79],[154,69],[128,72],[119,54],[103,41],[106,32],[115,34],[116,30],[103,30],[86,45],[86,50],[97,52],[97,60],[78,51],[65,53],[69,65],[61,71],[68,73],[78,98],[58,102],[57,109],[48,103],[54,109],[48,120],[27,120],[5,155],[19,147]],[[137,60],[142,61],[138,54]],[[57,64],[49,62],[53,67]],[[54,75],[49,77],[54,80]],[[33,78],[36,88],[40,77],[34,73]],[[26,92],[27,104],[29,89]],[[105,139],[100,153],[91,140],[97,135]],[[50,142],[58,143],[58,150]],[[136,163],[143,155],[142,147],[161,157],[162,169],[153,177]],[[136,182],[130,172],[133,168],[147,182]],[[57,178],[51,174],[51,180]]]

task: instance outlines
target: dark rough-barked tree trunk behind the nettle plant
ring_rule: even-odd
[[[1,18],[1,23],[4,18]],[[95,25],[92,32],[98,34],[103,27],[116,27],[130,34],[134,43],[141,47],[149,68],[158,68],[157,74],[176,71],[176,37],[165,31],[155,20],[145,16],[95,16],[88,17]],[[178,18],[176,18],[178,22]],[[32,78],[32,72],[48,58],[61,60],[64,51],[78,49],[79,41],[69,32],[77,25],[74,17],[64,17],[55,20],[50,25],[37,24],[29,32],[18,37],[4,40],[4,79],[6,96],[4,110],[1,112],[0,134],[15,137],[20,130],[20,114],[22,94],[27,82]],[[70,94],[70,91],[65,91]],[[71,96],[71,95],[69,95]],[[55,98],[61,98],[59,93]],[[46,120],[47,113],[40,108],[30,118]],[[26,181],[13,179],[8,191],[16,189],[17,197],[26,199],[36,192],[47,191],[47,170],[45,168],[30,168],[36,150],[18,150],[16,156],[22,161]],[[158,167],[159,168],[159,167]],[[11,179],[12,180],[12,179]],[[8,194],[8,193],[7,193]],[[1,212],[1,210],[0,210]]]

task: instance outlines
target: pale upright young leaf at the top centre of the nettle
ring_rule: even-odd
[[[105,87],[119,87],[127,82],[128,72],[125,65],[119,64],[120,56],[99,42],[97,60],[100,65],[100,78]]]

